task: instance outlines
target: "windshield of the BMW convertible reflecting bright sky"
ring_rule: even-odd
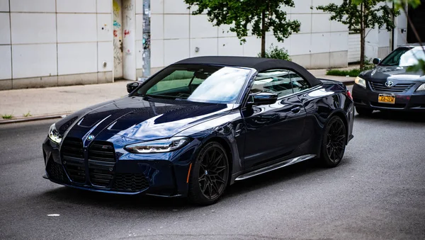
[[[172,65],[132,96],[203,103],[235,103],[251,69],[199,64]]]

